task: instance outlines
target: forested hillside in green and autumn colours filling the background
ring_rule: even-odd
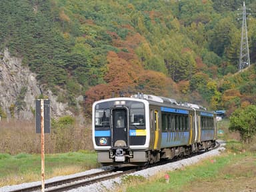
[[[254,1],[245,3],[256,8]],[[82,106],[89,115],[93,101],[113,93],[138,91],[230,114],[256,103],[255,66],[232,75],[239,61],[242,5],[235,0],[3,0],[0,49],[21,58],[37,75],[43,95],[50,89],[73,114]],[[255,24],[252,16],[247,22],[251,63]],[[78,101],[79,95],[85,101]],[[0,115],[11,114],[10,107],[0,105]]]

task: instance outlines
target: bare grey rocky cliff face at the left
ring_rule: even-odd
[[[43,90],[37,82],[36,74],[23,67],[21,59],[11,57],[7,49],[0,52],[0,107],[7,117],[35,118],[35,99],[41,94],[51,100],[51,116],[73,115],[67,103],[57,102],[57,96],[50,90]]]

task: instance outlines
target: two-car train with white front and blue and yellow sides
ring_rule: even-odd
[[[93,147],[103,166],[144,166],[215,146],[216,114],[193,103],[138,93],[92,107]]]

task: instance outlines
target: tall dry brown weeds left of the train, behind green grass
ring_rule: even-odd
[[[51,129],[45,134],[45,153],[65,153],[93,149],[91,123],[75,123],[65,129]],[[41,135],[35,133],[34,121],[0,121],[0,153],[41,153]]]

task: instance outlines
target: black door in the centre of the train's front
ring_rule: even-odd
[[[127,147],[127,109],[112,110],[112,147]]]

